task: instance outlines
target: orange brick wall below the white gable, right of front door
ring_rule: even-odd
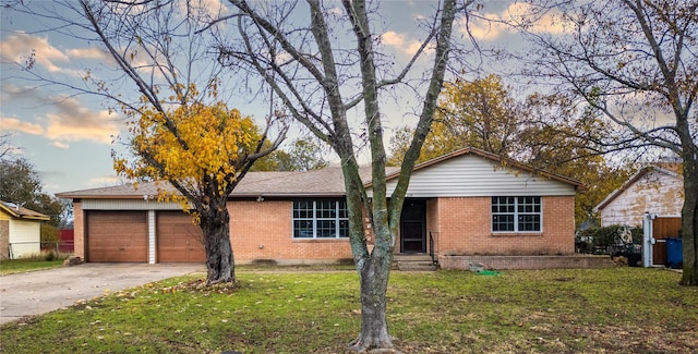
[[[429,212],[437,212],[440,255],[551,255],[574,253],[574,197],[543,197],[543,231],[493,233],[491,197],[438,198]],[[428,219],[431,217],[428,216]]]

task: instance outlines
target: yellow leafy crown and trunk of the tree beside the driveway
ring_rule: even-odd
[[[193,86],[188,93],[197,96]],[[171,110],[146,105],[137,117],[131,114],[134,157],[115,157],[115,170],[129,179],[169,182],[173,188],[163,185],[158,200],[180,203],[201,227],[207,283],[234,282],[228,195],[256,159],[278,147],[284,134],[265,145],[266,131],[260,132],[239,110],[224,102],[179,101],[184,105]]]

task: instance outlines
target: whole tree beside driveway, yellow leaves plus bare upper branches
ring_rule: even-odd
[[[249,117],[219,101],[219,89],[231,93],[236,87],[225,86],[219,78],[225,64],[212,56],[216,35],[207,30],[215,15],[209,7],[197,1],[88,0],[63,5],[70,19],[53,7],[23,11],[62,21],[67,33],[89,38],[109,60],[97,71],[84,68],[81,85],[31,74],[70,95],[99,97],[110,113],[111,105],[121,109],[131,149],[127,155],[112,152],[116,171],[127,179],[166,181],[159,184],[158,198],[180,203],[203,230],[208,283],[234,281],[227,198],[253,162],[284,139],[287,126],[264,145],[272,122],[281,114],[270,112],[261,132]],[[33,61],[23,69],[32,71]],[[266,89],[264,84],[254,86],[260,93]]]

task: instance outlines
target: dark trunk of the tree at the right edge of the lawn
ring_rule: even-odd
[[[684,273],[681,284],[698,286],[698,166],[689,154],[684,154],[684,192],[681,225]]]

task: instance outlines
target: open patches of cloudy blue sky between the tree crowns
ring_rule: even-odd
[[[40,2],[41,0],[39,0]],[[204,0],[218,7],[217,0]],[[36,1],[35,1],[36,2]],[[32,2],[28,2],[32,4]],[[508,1],[490,1],[482,11],[485,17],[508,19],[512,13],[524,11],[521,4]],[[433,1],[386,1],[383,45],[392,50],[397,62],[409,58],[419,47],[421,34],[416,33],[418,19],[433,12]],[[69,15],[59,14],[59,15]],[[104,187],[122,183],[113,169],[111,151],[119,150],[115,137],[127,133],[123,117],[109,110],[109,103],[96,96],[73,95],[60,86],[34,81],[27,71],[21,70],[32,56],[33,71],[46,77],[75,86],[83,86],[86,70],[108,66],[112,62],[98,45],[65,36],[59,32],[45,32],[50,27],[48,19],[0,9],[0,134],[11,134],[13,151],[32,162],[44,182],[44,191],[60,192]],[[552,23],[541,23],[541,28],[555,30]],[[464,25],[456,32],[464,34]],[[476,22],[471,33],[482,44],[515,42],[515,34],[500,25]],[[34,53],[34,54],[33,54]],[[124,93],[134,86],[124,81]],[[236,107],[230,102],[229,106]],[[258,105],[257,105],[258,106]],[[386,105],[388,127],[399,127],[406,112],[399,105]],[[256,119],[263,111],[246,111]],[[389,132],[387,132],[389,136]]]

